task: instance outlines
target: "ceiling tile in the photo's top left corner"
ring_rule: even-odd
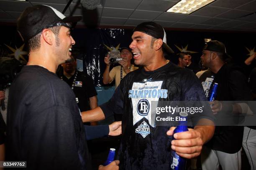
[[[5,11],[23,12],[26,7],[31,7],[29,2],[0,0],[0,8]]]

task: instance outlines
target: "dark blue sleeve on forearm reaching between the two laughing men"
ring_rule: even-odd
[[[88,126],[84,125],[86,140],[101,138],[109,134],[108,125]]]

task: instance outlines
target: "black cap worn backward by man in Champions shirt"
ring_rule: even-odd
[[[166,33],[164,31],[164,28],[161,25],[154,22],[145,22],[145,23],[139,24],[136,28],[134,28],[133,32],[135,31],[143,32],[157,39],[159,38],[162,39],[164,50],[166,50],[166,52],[169,54],[174,53],[172,48],[167,45]]]

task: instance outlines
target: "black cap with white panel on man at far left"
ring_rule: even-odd
[[[47,5],[27,7],[17,20],[17,30],[27,42],[45,28],[65,26],[73,28],[81,20],[81,16],[66,17],[55,8]]]

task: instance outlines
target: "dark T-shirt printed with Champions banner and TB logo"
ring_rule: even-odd
[[[101,105],[106,117],[123,114],[122,140],[119,150],[121,170],[166,170],[170,166],[170,142],[166,135],[171,126],[155,126],[151,120],[152,101],[206,100],[195,74],[168,63],[146,72],[130,72],[121,80],[113,97]],[[190,115],[194,123],[200,118],[214,120],[212,112]]]

